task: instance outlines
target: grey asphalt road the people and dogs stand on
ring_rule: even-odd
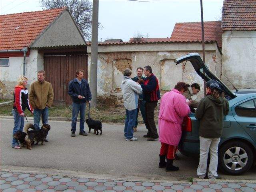
[[[32,120],[29,120],[32,122]],[[32,150],[11,147],[12,119],[0,119],[1,165],[31,168],[81,171],[104,174],[115,178],[140,178],[153,180],[184,180],[196,178],[198,159],[181,156],[174,164],[178,172],[165,172],[158,168],[160,142],[148,142],[143,138],[144,126],[138,127],[138,141],[126,142],[122,124],[103,124],[101,136],[70,137],[70,122],[49,121],[50,142],[44,146],[33,145]],[[79,127],[79,124],[77,125]],[[87,130],[88,131],[88,128]],[[256,168],[243,176],[229,176],[219,172],[223,179],[256,180]]]

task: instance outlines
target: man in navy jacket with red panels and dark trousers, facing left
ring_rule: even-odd
[[[160,99],[160,90],[158,79],[152,73],[152,68],[150,66],[144,67],[144,74],[147,78],[144,80],[144,84],[142,84],[141,87],[143,91],[143,100],[146,101],[145,123],[146,127],[148,128],[148,133],[144,135],[144,137],[148,138],[148,141],[155,141],[158,139],[158,133],[154,120],[154,110],[158,100]]]

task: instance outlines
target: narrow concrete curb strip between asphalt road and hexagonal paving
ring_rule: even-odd
[[[31,169],[33,169],[33,170],[31,170]],[[150,179],[139,179],[139,178],[118,178],[116,176],[111,176],[111,175],[91,174],[91,173],[81,172],[81,171],[30,168],[30,167],[8,166],[8,165],[6,165],[6,166],[2,165],[0,170],[8,171],[8,172],[29,173],[29,174],[47,174],[47,175],[58,175],[58,176],[76,177],[76,178],[120,180],[120,181],[128,181],[128,182],[192,184],[192,182],[188,182],[188,181],[150,180]]]

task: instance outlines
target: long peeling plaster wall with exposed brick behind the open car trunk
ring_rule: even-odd
[[[148,45],[144,46],[148,48],[148,50],[151,50],[149,47],[147,47]],[[198,47],[195,44],[191,44],[191,46],[192,48]],[[184,64],[174,64],[174,60],[176,58],[184,56],[190,52],[198,52],[202,56],[202,52],[192,49],[188,50],[189,47],[190,44],[187,44],[186,51],[179,51],[176,49],[165,51],[126,52],[122,46],[117,46],[116,52],[99,52],[97,96],[116,96],[119,99],[122,97],[120,84],[123,74],[121,70],[118,70],[116,66],[114,66],[115,62],[119,59],[132,60],[132,77],[136,76],[137,67],[143,68],[146,65],[150,65],[152,67],[152,72],[159,80],[162,93],[171,90],[178,81],[185,81],[189,84],[196,82],[200,84],[203,90],[203,80],[200,78],[200,76],[198,76],[198,74],[196,74],[190,62],[187,62],[186,66],[184,66]],[[123,52],[118,52],[120,51],[120,48],[123,49]],[[126,46],[126,48],[127,50],[131,50],[131,48],[128,46]],[[146,48],[140,49],[144,50]],[[101,48],[99,48],[99,50],[103,51]],[[106,51],[106,49],[104,49],[104,51]],[[220,77],[221,54],[219,53],[216,44],[208,46],[208,50],[206,51],[206,65],[214,74],[216,74],[216,76]],[[90,74],[90,54],[88,59],[88,66]],[[199,92],[198,97],[202,97],[203,94],[203,91]]]

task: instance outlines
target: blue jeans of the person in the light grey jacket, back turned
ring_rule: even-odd
[[[124,136],[127,139],[133,138],[133,127],[135,126],[136,122],[136,116],[137,116],[137,108],[134,110],[127,110],[126,112],[126,119],[125,119],[125,125],[124,125]]]

